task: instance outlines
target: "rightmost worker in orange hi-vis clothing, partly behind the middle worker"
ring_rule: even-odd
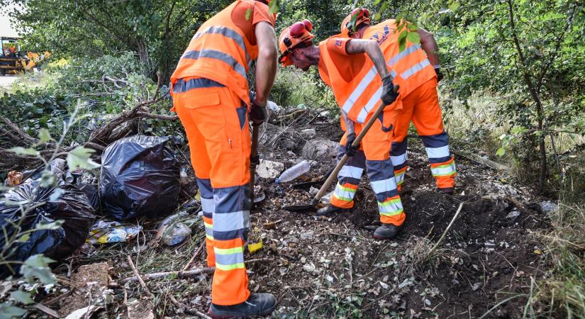
[[[352,23],[352,17],[355,22]],[[396,33],[396,21],[386,20],[376,26],[370,26],[369,11],[354,9],[341,24],[341,32],[350,38],[361,39],[373,36],[376,40],[393,37]],[[371,35],[370,28],[382,28],[384,32]],[[405,27],[406,29],[406,27]],[[435,177],[438,189],[446,194],[453,194],[455,186],[455,159],[449,150],[447,132],[443,129],[441,108],[437,94],[437,83],[442,79],[440,62],[437,55],[438,46],[433,34],[422,28],[416,31],[420,35],[420,45],[406,40],[406,48],[399,55],[388,61],[389,67],[396,70],[396,84],[401,87],[402,111],[396,119],[394,138],[390,151],[396,184],[399,190],[408,168],[406,152],[406,135],[411,121],[414,123],[420,140],[423,141],[430,162],[430,171]],[[394,42],[396,47],[398,41]],[[421,50],[422,49],[422,50]],[[426,53],[425,59],[419,59]],[[416,57],[420,63],[410,67],[410,60]],[[401,72],[398,72],[398,69]],[[413,72],[415,70],[417,72]]]

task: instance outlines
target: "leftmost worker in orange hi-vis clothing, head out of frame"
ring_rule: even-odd
[[[207,264],[216,267],[209,315],[269,315],[270,293],[250,293],[244,245],[250,227],[250,120],[266,119],[277,71],[275,16],[269,1],[238,0],[206,21],[171,77],[174,111],[184,126],[201,191]],[[246,72],[256,64],[256,94]]]

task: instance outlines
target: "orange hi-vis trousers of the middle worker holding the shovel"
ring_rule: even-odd
[[[374,122],[374,125],[364,135],[360,150],[356,155],[343,165],[338,174],[338,184],[335,186],[331,205],[340,208],[352,208],[353,198],[357,186],[362,179],[364,168],[367,169],[369,182],[376,195],[380,213],[380,222],[386,224],[402,225],[406,219],[402,207],[402,201],[396,188],[394,179],[394,167],[390,159],[389,150],[392,141],[392,130],[399,111],[384,111]],[[367,121],[372,116],[369,114]],[[355,123],[355,134],[362,131],[364,125]],[[343,135],[338,148],[338,159],[345,155],[347,132]]]

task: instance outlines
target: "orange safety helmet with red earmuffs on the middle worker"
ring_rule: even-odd
[[[288,58],[292,50],[295,47],[308,47],[313,44],[312,40],[314,35],[311,34],[311,30],[313,30],[313,23],[307,19],[301,22],[295,22],[289,28],[282,30],[282,33],[280,33],[278,38],[281,52],[278,62],[285,67],[287,65],[292,65],[292,62]]]

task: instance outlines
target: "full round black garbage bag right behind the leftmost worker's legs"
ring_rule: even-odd
[[[99,193],[104,211],[118,220],[167,216],[177,208],[181,165],[168,138],[135,135],[101,155]]]

